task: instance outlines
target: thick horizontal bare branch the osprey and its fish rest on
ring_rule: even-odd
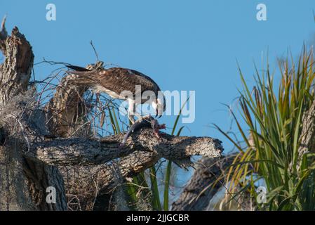
[[[84,138],[53,139],[33,143],[25,155],[49,165],[100,165],[138,150],[156,153],[160,158],[174,160],[185,166],[183,162],[189,160],[192,155],[217,158],[223,150],[217,139],[168,134],[157,139],[152,129],[148,128],[136,131],[126,146],[120,147],[122,141],[123,134],[108,136],[100,141]],[[130,162],[131,164],[133,162]]]

